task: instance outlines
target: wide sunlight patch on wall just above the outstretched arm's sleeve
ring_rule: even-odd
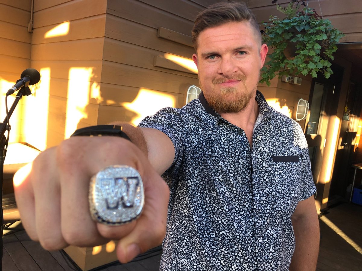
[[[144,117],[154,115],[164,107],[175,107],[175,104],[176,101],[172,95],[155,90],[140,89],[133,102],[122,103],[122,106],[136,113],[136,117],[131,122],[138,125]]]

